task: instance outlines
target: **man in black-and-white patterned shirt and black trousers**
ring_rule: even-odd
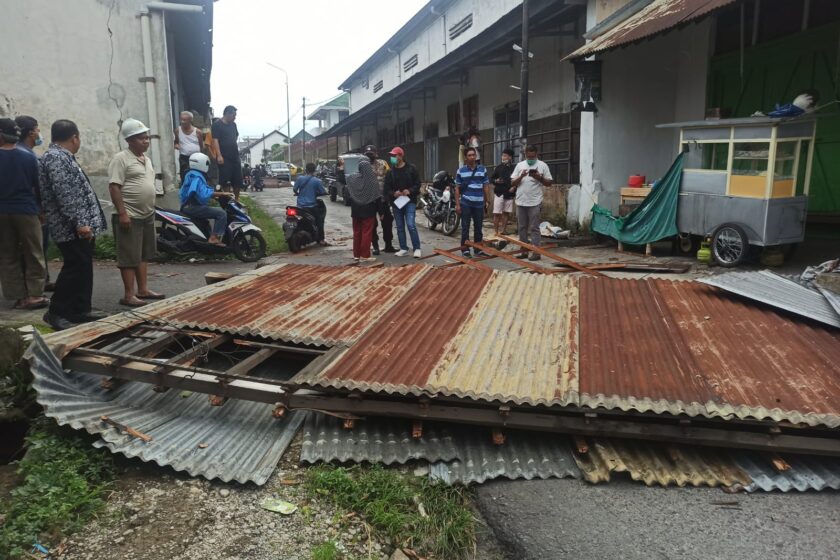
[[[76,161],[82,145],[79,127],[59,119],[50,136],[52,143],[41,158],[41,200],[64,264],[44,321],[63,330],[107,316],[91,308],[94,240],[106,225],[99,199]]]

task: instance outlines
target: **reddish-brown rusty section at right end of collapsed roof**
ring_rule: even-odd
[[[840,335],[695,282],[580,279],[580,403],[840,426]]]

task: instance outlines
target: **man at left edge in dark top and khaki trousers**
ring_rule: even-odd
[[[20,129],[0,119],[0,285],[17,309],[46,307],[38,207],[38,159],[16,146]],[[21,266],[23,261],[23,266]]]

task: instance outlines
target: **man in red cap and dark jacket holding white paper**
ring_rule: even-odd
[[[405,161],[405,152],[400,147],[391,150],[391,169],[385,174],[384,192],[391,201],[394,220],[397,224],[397,239],[400,242],[398,257],[408,254],[408,244],[405,239],[405,227],[411,236],[411,248],[414,258],[422,256],[420,251],[420,235],[417,233],[417,196],[420,194],[420,175],[417,168]]]

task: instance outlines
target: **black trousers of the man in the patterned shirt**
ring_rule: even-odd
[[[50,313],[68,321],[90,312],[93,295],[93,239],[57,243],[64,264],[55,280]]]

